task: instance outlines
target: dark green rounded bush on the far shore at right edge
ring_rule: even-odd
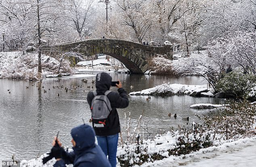
[[[246,98],[254,86],[256,86],[256,75],[244,75],[239,71],[232,71],[220,79],[216,91],[224,93],[226,97]]]

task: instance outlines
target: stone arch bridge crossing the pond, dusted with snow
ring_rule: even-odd
[[[121,61],[131,73],[145,73],[151,65],[152,58],[157,54],[172,59],[170,45],[155,47],[118,39],[90,39],[62,43],[52,46],[50,50],[52,53],[53,51],[72,51],[80,53],[84,57],[102,53]]]

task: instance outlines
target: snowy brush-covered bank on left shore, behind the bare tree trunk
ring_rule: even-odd
[[[42,75],[57,73],[59,61],[49,56],[42,55]],[[0,53],[0,78],[25,78],[37,79],[38,53],[26,53],[22,51]],[[63,60],[61,71],[73,73],[69,62]]]

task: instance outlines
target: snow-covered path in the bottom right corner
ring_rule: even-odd
[[[183,157],[169,157],[141,167],[255,167],[256,138],[201,149]]]

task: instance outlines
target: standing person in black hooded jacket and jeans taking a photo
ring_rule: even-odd
[[[96,92],[97,95],[104,95],[111,86],[112,77],[108,73],[98,73],[96,76]],[[116,151],[118,146],[118,133],[120,132],[120,122],[117,112],[117,108],[126,108],[129,105],[127,93],[122,88],[122,83],[116,84],[118,92],[111,91],[107,94],[107,98],[111,103],[112,111],[108,116],[109,126],[108,128],[97,128],[92,126],[95,130],[97,141],[105,155],[108,155],[109,162],[112,167],[116,166]],[[89,92],[87,96],[87,102],[92,105],[92,99],[94,98],[93,92]]]

